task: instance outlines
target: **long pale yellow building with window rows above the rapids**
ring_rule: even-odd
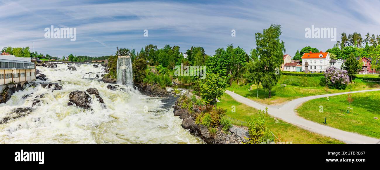
[[[35,63],[26,57],[0,55],[0,85],[36,80]]]

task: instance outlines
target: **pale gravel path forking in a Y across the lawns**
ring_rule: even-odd
[[[307,129],[309,131],[312,131],[318,134],[329,136],[329,137],[341,140],[345,143],[379,143],[380,139],[367,137],[367,136],[356,134],[353,132],[346,132],[346,131],[342,131],[336,128],[331,128],[323,124],[318,124],[313,121],[306,120],[298,116],[294,112],[294,109],[296,109],[296,107],[298,107],[302,103],[309,101],[311,99],[317,99],[317,98],[322,98],[326,96],[336,96],[336,95],[348,94],[348,93],[360,93],[360,92],[366,92],[366,91],[380,91],[380,89],[350,91],[350,92],[333,93],[333,94],[321,94],[317,96],[308,96],[308,97],[298,98],[282,105],[280,108],[268,107],[268,113],[272,116],[280,118],[288,123],[294,124],[303,129]],[[232,98],[234,98],[236,101],[249,105],[250,107],[254,107],[259,110],[265,110],[265,108],[267,107],[266,105],[262,105],[258,102],[252,101],[251,99],[244,98],[243,96],[233,93],[232,91],[226,90],[225,92],[229,94]]]

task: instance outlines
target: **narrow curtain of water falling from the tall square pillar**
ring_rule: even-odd
[[[117,83],[133,88],[132,61],[130,56],[117,58]]]

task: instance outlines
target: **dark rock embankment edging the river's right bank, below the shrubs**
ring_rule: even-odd
[[[178,99],[173,105],[174,116],[179,116],[179,118],[183,119],[182,128],[188,129],[191,134],[203,139],[204,142],[209,144],[242,144],[246,142],[248,131],[236,126],[231,127],[228,133],[219,128],[214,135],[210,134],[206,126],[195,123],[195,115],[189,113],[187,109],[180,109],[179,102],[180,100]],[[193,109],[196,113],[202,112],[202,110],[204,109],[197,107]]]

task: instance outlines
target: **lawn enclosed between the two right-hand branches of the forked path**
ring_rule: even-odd
[[[347,114],[347,94],[310,100],[302,104],[297,110],[298,115],[307,120],[323,124],[327,118],[327,126],[356,132],[370,137],[380,138],[380,91],[371,91],[351,94],[354,101],[351,103],[353,113]],[[320,105],[323,113],[320,113]]]

